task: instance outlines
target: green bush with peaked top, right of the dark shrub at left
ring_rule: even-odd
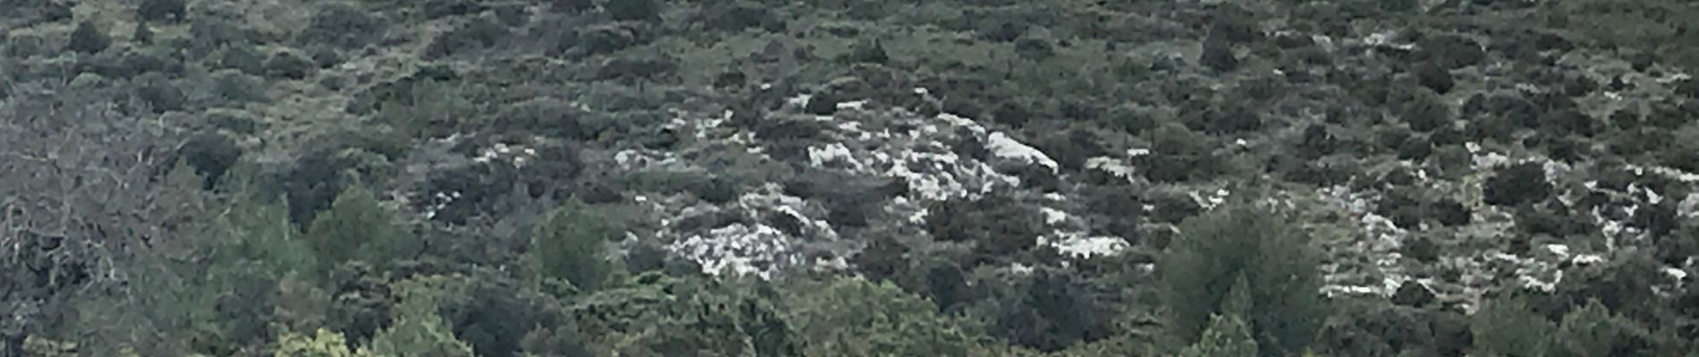
[[[377,196],[358,184],[350,184],[330,210],[319,213],[308,228],[308,242],[321,264],[365,261],[372,266],[389,264],[418,255],[423,249],[418,239],[394,213],[379,205]]]

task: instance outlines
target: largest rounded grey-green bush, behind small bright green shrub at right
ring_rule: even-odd
[[[1244,310],[1264,355],[1295,354],[1315,338],[1327,306],[1320,255],[1308,233],[1278,213],[1233,203],[1179,225],[1157,262],[1157,294],[1171,332],[1194,342],[1228,305]],[[1232,298],[1233,286],[1240,298]]]

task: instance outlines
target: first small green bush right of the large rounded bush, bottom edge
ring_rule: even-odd
[[[1502,296],[1487,301],[1475,311],[1470,327],[1475,332],[1475,352],[1499,357],[1544,355],[1544,342],[1556,327],[1536,313],[1524,296]]]

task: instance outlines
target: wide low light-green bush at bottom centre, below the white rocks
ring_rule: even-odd
[[[844,277],[790,289],[804,355],[970,355],[980,332],[890,283]]]

